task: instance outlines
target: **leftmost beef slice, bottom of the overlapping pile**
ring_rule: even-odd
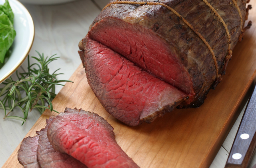
[[[24,168],[40,168],[36,159],[39,135],[24,138],[18,150],[18,160]]]

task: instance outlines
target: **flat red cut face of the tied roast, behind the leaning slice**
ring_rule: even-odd
[[[122,29],[122,28],[120,28],[120,26],[125,26],[125,28]],[[126,27],[128,27],[128,28],[126,28]],[[142,54],[147,53],[147,50],[148,50],[148,53],[150,53],[148,55],[150,55],[150,56],[154,56],[154,54],[161,53],[161,54],[159,54],[159,56],[163,56],[165,58],[162,58],[162,60],[160,60],[160,59],[158,60],[158,58],[151,58],[151,57],[146,58],[146,56],[145,57],[140,56],[139,60],[136,60],[136,58],[138,58],[138,56],[139,56],[139,54],[137,53],[137,52],[139,52],[139,49],[137,49],[137,48],[140,46],[140,44],[138,44],[139,42],[137,42],[137,41],[135,42],[135,44],[132,44],[132,42],[129,42],[129,39],[125,39],[125,41],[127,41],[126,42],[127,45],[130,45],[130,46],[128,47],[127,50],[122,52],[122,50],[124,50],[126,44],[124,44],[124,46],[119,47],[119,48],[117,46],[119,44],[122,44],[121,40],[126,38],[125,36],[119,37],[119,36],[121,36],[120,33],[117,33],[116,31],[114,31],[114,33],[111,34],[111,38],[105,37],[105,35],[107,36],[107,34],[109,34],[109,32],[107,32],[107,31],[112,31],[114,28],[120,28],[120,31],[118,31],[120,33],[124,32],[124,31],[130,31],[130,33],[124,32],[124,34],[126,36],[130,36],[130,39],[132,39],[132,40],[145,38],[145,36],[146,36],[146,38],[152,38],[152,39],[150,39],[151,40],[150,42],[152,42],[154,40],[154,43],[156,43],[157,45],[159,43],[159,45],[154,46],[156,48],[151,48],[151,50],[150,50],[150,49],[148,49],[148,48],[150,48],[150,44],[145,44],[146,41],[144,40],[142,42],[143,43],[142,45],[144,45],[144,48],[143,48],[144,51]],[[132,30],[132,29],[134,29],[134,30]],[[117,36],[117,34],[118,34],[118,36]],[[140,37],[140,34],[142,34],[141,35],[142,37]],[[110,36],[110,35],[108,35],[108,36]],[[136,64],[136,66],[139,66],[143,70],[150,72],[150,74],[153,74],[157,78],[164,80],[165,82],[175,86],[176,88],[179,88],[180,90],[183,90],[184,93],[189,95],[189,98],[184,103],[189,104],[190,102],[192,102],[193,98],[196,96],[194,93],[194,89],[193,89],[193,82],[190,79],[189,73],[187,72],[186,68],[184,68],[184,66],[179,62],[179,59],[176,58],[177,57],[176,55],[179,51],[177,51],[177,49],[175,47],[168,45],[168,42],[166,42],[166,40],[164,38],[161,38],[156,33],[152,32],[152,30],[143,28],[142,26],[140,26],[138,24],[130,24],[130,23],[125,22],[124,20],[121,20],[119,18],[104,18],[104,19],[98,21],[96,24],[94,24],[90,28],[90,30],[88,32],[88,37],[90,37],[93,40],[96,40],[97,42],[100,42],[101,44],[104,44],[106,47],[112,49],[114,52],[116,52],[116,53],[120,54],[121,56],[123,56],[124,58],[130,60],[131,62]],[[104,38],[106,38],[107,40],[106,39],[104,40]],[[119,38],[119,41],[113,41],[113,39],[118,40],[118,38]],[[132,45],[135,45],[135,46],[132,46]],[[133,49],[133,47],[135,49]],[[81,50],[81,48],[80,48],[80,50]],[[152,52],[155,52],[155,53],[152,54]],[[133,53],[135,55],[137,54],[138,56],[133,58],[132,57]],[[142,61],[142,59],[143,59],[143,61]],[[148,59],[148,64],[150,62],[157,62],[157,64],[159,63],[159,67],[164,66],[164,64],[166,64],[166,62],[168,62],[168,61],[172,62],[171,64],[168,64],[168,67],[166,66],[163,69],[159,68],[159,70],[162,70],[162,72],[168,72],[168,70],[170,70],[169,76],[166,77],[166,76],[163,76],[162,75],[163,73],[160,73],[160,71],[151,70],[150,66],[148,66],[147,63],[145,63],[146,59]],[[172,67],[170,68],[170,66],[172,66]],[[176,70],[173,70],[175,68],[176,68]],[[180,72],[180,74],[177,71]],[[177,76],[176,72],[178,73],[179,77],[182,78],[181,82],[176,81],[176,80],[180,80],[179,77],[176,77]],[[187,84],[188,86],[184,86],[185,84]]]

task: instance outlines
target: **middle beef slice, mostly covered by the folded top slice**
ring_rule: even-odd
[[[37,159],[41,168],[87,168],[72,156],[54,150],[47,137],[47,129],[53,118],[46,120],[46,127],[38,140]]]

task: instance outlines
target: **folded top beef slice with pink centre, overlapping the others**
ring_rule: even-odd
[[[56,150],[88,168],[138,168],[116,143],[112,126],[98,114],[66,108],[49,124],[47,135]]]

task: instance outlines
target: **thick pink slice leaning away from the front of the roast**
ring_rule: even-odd
[[[125,124],[152,122],[188,97],[88,36],[80,45],[89,85],[104,108]]]

